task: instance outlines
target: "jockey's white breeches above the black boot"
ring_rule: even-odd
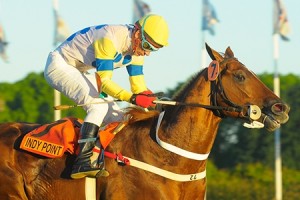
[[[44,76],[56,90],[69,97],[76,104],[83,106],[87,115],[85,122],[100,126],[112,121],[122,121],[123,112],[115,103],[90,104],[93,102],[112,101],[112,97],[99,98],[95,74],[83,74],[66,63],[59,52],[51,52],[48,56]]]

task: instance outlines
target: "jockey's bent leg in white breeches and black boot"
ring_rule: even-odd
[[[58,51],[49,54],[44,75],[53,88],[69,97],[76,104],[86,104],[86,106],[83,106],[83,109],[87,112],[87,116],[81,129],[81,137],[83,139],[95,138],[98,134],[99,126],[108,112],[107,104],[92,104],[92,102],[104,101],[98,98],[99,91],[95,75],[81,73],[77,68],[67,63]],[[71,174],[72,178],[108,175],[106,171],[101,170],[101,167],[95,168],[91,166],[90,156],[92,155],[94,144],[95,141],[87,140],[79,144],[80,154],[75,161]],[[103,174],[101,174],[102,172]]]

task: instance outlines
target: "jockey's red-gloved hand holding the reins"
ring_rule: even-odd
[[[130,98],[130,103],[143,108],[155,107],[153,101],[156,99],[150,90],[141,92],[139,94],[133,94]]]

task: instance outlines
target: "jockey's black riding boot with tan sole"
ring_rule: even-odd
[[[79,154],[73,165],[71,177],[73,179],[79,179],[84,177],[99,177],[108,176],[109,173],[104,169],[104,157],[101,156],[101,160],[97,166],[93,166],[91,163],[91,156],[93,155],[93,148],[96,143],[99,126],[84,122],[80,131]]]

